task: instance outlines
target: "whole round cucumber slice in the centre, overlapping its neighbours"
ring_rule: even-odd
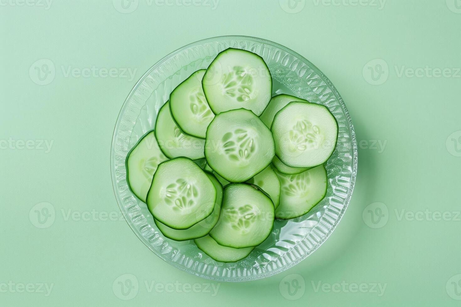
[[[243,182],[266,168],[274,157],[271,131],[245,109],[222,112],[207,129],[208,165],[231,182]]]

